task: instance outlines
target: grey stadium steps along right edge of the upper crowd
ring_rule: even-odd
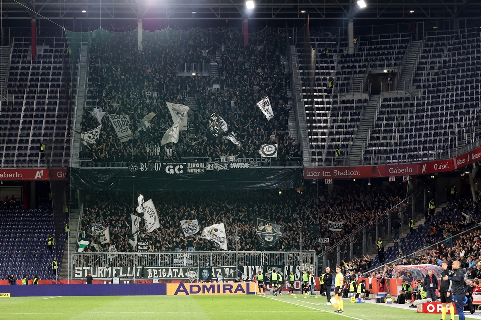
[[[292,65],[290,65],[292,69],[292,84],[291,87],[293,90],[294,99],[297,102],[297,124],[299,126],[297,132],[300,134],[298,136],[298,142],[301,144],[302,147],[302,162],[303,165],[311,165],[310,163],[310,156],[309,156],[309,140],[308,140],[308,126],[306,124],[306,110],[304,108],[304,101],[302,98],[302,89],[301,89],[301,76],[299,73],[299,64],[297,59],[297,51],[295,46],[290,46],[290,55],[292,57]],[[289,117],[290,120],[290,117]],[[290,128],[290,127],[289,127]]]

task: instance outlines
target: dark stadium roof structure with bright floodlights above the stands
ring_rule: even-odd
[[[249,19],[443,20],[481,16],[479,0],[256,0]],[[3,0],[3,19],[242,20],[244,0]]]

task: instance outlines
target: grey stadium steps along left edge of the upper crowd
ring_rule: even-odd
[[[77,163],[78,156],[80,154],[80,125],[82,123],[83,109],[85,107],[86,97],[87,97],[87,80],[89,69],[89,47],[84,44],[80,48],[80,59],[78,63],[78,81],[77,81],[77,96],[75,99],[75,128],[74,128],[74,141],[71,144],[73,151],[70,152],[71,160],[70,163]]]

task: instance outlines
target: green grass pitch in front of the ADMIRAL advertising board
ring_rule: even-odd
[[[418,314],[415,309],[351,303],[333,313],[325,297],[282,296],[93,296],[0,298],[1,320],[433,320],[441,315]],[[449,314],[446,317],[449,319]],[[456,316],[456,319],[457,316]]]

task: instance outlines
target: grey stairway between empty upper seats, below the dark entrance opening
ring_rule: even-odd
[[[369,102],[362,114],[357,134],[352,142],[349,156],[347,157],[348,165],[359,165],[362,155],[365,150],[367,136],[371,133],[373,122],[379,108],[380,95],[372,95],[369,97]]]

